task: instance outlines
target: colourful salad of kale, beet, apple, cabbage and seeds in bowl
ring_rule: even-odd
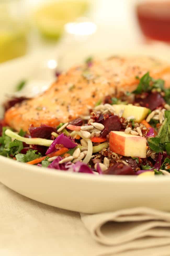
[[[170,89],[149,72],[133,92],[106,96],[89,115],[58,127],[15,132],[0,121],[0,155],[22,163],[96,175],[170,175]],[[12,99],[5,108],[21,99]]]

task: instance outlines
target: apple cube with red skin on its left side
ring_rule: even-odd
[[[109,147],[123,156],[146,158],[146,138],[125,132],[110,132]]]

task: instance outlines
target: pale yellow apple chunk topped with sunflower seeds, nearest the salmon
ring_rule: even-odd
[[[122,117],[127,118],[129,116],[134,116],[135,122],[140,123],[148,115],[149,108],[138,107],[133,105],[113,105],[115,113],[118,114],[120,110],[124,109]]]

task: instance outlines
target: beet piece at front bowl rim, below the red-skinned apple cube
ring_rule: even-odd
[[[122,163],[117,163],[110,166],[104,174],[108,175],[136,175],[134,170],[129,166]]]

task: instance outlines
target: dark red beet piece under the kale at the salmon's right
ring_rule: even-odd
[[[163,97],[158,92],[150,93],[144,99],[136,98],[135,102],[138,102],[140,106],[150,108],[151,110],[165,104]]]

